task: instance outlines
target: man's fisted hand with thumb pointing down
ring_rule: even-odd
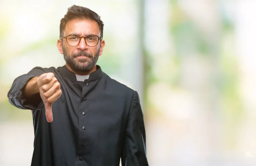
[[[41,99],[44,102],[48,122],[52,122],[52,103],[61,96],[61,84],[53,73],[44,73],[37,79]]]

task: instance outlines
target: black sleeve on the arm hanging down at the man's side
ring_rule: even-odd
[[[121,160],[122,166],[148,166],[143,112],[136,91],[126,126],[125,145]]]

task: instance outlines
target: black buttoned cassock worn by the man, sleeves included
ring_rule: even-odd
[[[39,93],[22,96],[32,77],[48,72],[55,74],[62,91],[52,103],[52,123]],[[77,81],[66,66],[35,67],[14,80],[8,97],[17,108],[32,110],[32,166],[119,166],[120,157],[123,166],[148,166],[139,95],[100,66],[84,81]]]

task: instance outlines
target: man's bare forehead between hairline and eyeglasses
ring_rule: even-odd
[[[65,34],[79,34],[85,36],[87,34],[99,35],[99,25],[94,20],[88,19],[73,19],[66,23]]]

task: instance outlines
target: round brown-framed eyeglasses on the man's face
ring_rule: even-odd
[[[77,34],[70,34],[66,37],[61,37],[61,39],[65,38],[67,40],[68,45],[70,45],[71,47],[75,47],[79,45],[82,37],[84,37],[85,43],[89,47],[96,46],[99,43],[99,40],[102,39],[102,37],[99,37],[95,34],[88,34],[86,36],[81,37]]]

